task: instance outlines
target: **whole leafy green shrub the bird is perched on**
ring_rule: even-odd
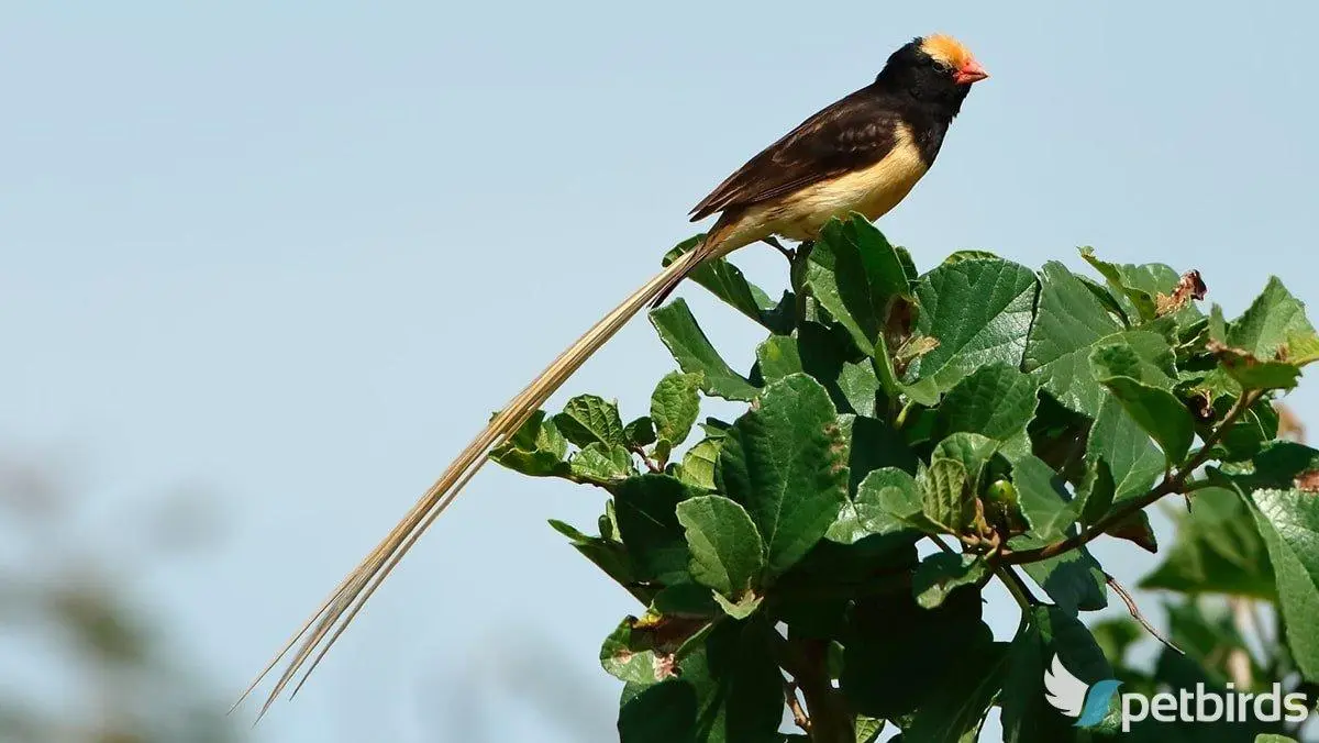
[[[864,219],[835,220],[778,301],[725,261],[694,275],[766,330],[747,373],[678,300],[650,315],[681,371],[649,410],[582,395],[493,453],[608,495],[596,534],[553,525],[645,607],[600,651],[624,742],[973,740],[993,707],[1013,742],[1116,734],[1117,697],[1088,728],[1046,703],[1054,657],[1128,690],[1277,681],[1312,706],[1319,451],[1277,438],[1272,400],[1319,337],[1275,278],[1229,322],[1198,306],[1194,271],[1082,257],[1100,278],[985,252],[921,273]],[[698,424],[702,395],[749,405]],[[1080,619],[1128,599],[1087,545],[1157,550],[1144,509],[1165,496],[1190,516],[1146,585],[1182,597],[1166,611],[1184,655],[1141,670],[1136,626]],[[1020,604],[1008,643],[981,620],[992,581]],[[1298,734],[1130,735],[1264,732]]]

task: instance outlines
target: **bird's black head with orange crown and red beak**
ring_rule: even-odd
[[[951,104],[956,113],[971,86],[988,77],[960,41],[936,33],[894,51],[874,82],[921,100]]]

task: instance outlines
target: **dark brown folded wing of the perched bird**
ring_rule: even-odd
[[[897,111],[863,88],[816,112],[751,158],[691,210],[698,222],[793,193],[884,160],[898,141]]]

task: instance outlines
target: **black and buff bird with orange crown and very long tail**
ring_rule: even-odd
[[[549,397],[632,317],[658,305],[692,269],[737,248],[777,238],[813,240],[835,216],[888,214],[926,174],[971,86],[988,78],[971,51],[946,34],[917,37],[889,55],[874,81],[807,117],[747,161],[690,211],[718,214],[696,248],[682,253],[563,351],[463,449],[384,540],[335,587],[270,660],[235,707],[290,652],[259,719],[303,670],[297,694],[421,534]],[[297,648],[297,649],[294,649]]]

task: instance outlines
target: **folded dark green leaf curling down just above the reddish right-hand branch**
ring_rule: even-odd
[[[1134,420],[1163,450],[1170,466],[1182,463],[1195,439],[1191,412],[1171,392],[1120,376],[1138,367],[1140,359],[1129,346],[1108,346],[1091,356],[1096,380],[1107,387]]]

